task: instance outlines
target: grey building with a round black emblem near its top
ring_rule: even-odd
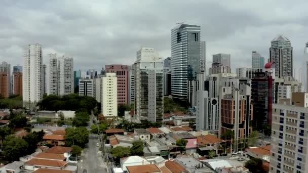
[[[201,129],[217,130],[218,129],[218,116],[219,104],[218,98],[209,98],[207,91],[197,92],[197,106],[196,106],[196,128],[198,131]]]

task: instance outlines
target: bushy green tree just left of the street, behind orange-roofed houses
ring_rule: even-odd
[[[89,142],[89,131],[86,127],[68,127],[65,128],[65,145],[78,145],[85,148]]]

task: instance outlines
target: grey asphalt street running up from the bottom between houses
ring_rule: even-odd
[[[84,173],[84,169],[87,169],[87,173],[107,172],[101,155],[97,154],[99,148],[96,146],[97,139],[97,135],[90,134],[89,144],[82,153],[82,161],[78,163],[78,172]]]

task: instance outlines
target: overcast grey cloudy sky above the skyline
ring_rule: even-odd
[[[130,65],[141,47],[170,56],[170,30],[178,22],[201,26],[207,67],[216,53],[231,54],[232,68],[251,66],[251,51],[268,58],[270,41],[288,37],[294,63],[308,41],[308,1],[10,1],[0,6],[0,61],[22,64],[28,44],[69,54],[75,69]]]

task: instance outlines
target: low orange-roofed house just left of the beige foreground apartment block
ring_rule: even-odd
[[[246,149],[247,155],[250,158],[259,158],[267,162],[270,162],[271,157],[271,146],[260,146],[260,147],[250,147]]]

